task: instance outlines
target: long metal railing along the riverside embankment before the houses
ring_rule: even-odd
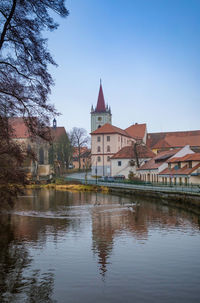
[[[67,181],[78,181],[82,184],[91,184],[99,186],[107,186],[114,188],[126,188],[126,189],[141,189],[150,190],[157,192],[173,192],[173,193],[195,193],[200,195],[200,186],[198,184],[188,184],[188,185],[175,185],[175,184],[162,184],[162,183],[151,183],[142,181],[130,181],[130,180],[117,180],[117,181],[100,181],[98,179],[78,179],[66,177]]]

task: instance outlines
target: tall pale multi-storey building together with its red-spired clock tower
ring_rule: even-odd
[[[124,147],[131,147],[137,140],[146,143],[146,133],[146,124],[136,123],[125,130],[112,125],[111,109],[105,105],[100,83],[97,105],[95,110],[93,106],[91,110],[92,175],[111,176],[114,173],[111,165],[113,156]],[[121,171],[120,167],[117,171]]]

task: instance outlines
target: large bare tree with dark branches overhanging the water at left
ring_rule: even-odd
[[[42,32],[58,27],[50,15],[51,11],[61,17],[68,15],[64,0],[0,1],[0,134],[6,136],[0,141],[0,154],[8,158],[7,168],[5,158],[0,159],[1,192],[4,180],[11,183],[24,183],[25,180],[18,169],[24,156],[17,145],[15,152],[12,148],[14,142],[11,140],[12,129],[9,129],[8,118],[23,117],[33,137],[50,140],[47,126],[57,112],[48,102],[53,85],[48,65],[56,63],[47,49],[47,40],[42,37]]]

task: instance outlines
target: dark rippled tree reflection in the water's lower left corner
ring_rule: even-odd
[[[0,217],[0,302],[55,302],[51,299],[54,286],[52,273],[33,274],[26,270],[31,264],[26,245],[18,242],[10,216]]]

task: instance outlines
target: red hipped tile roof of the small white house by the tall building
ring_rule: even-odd
[[[153,158],[155,154],[146,146],[137,146],[138,157],[140,159]],[[120,149],[111,159],[135,159],[135,151],[133,146],[125,146]]]

